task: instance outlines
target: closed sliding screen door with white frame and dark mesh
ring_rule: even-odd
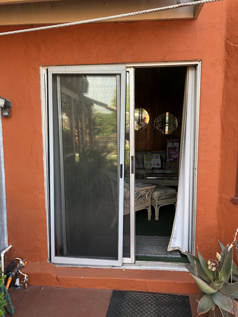
[[[50,67],[51,259],[121,265],[124,66]]]

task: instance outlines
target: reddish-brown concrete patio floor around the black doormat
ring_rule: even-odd
[[[10,288],[9,294],[15,309],[14,317],[105,317],[112,290],[30,285],[27,289]],[[195,317],[197,295],[187,295],[192,316]]]

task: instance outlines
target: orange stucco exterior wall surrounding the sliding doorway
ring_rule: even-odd
[[[89,24],[0,37],[0,93],[13,105],[10,118],[2,120],[13,245],[8,257],[28,260],[33,283],[47,285],[49,274],[66,278],[81,270],[47,263],[40,65],[201,59],[196,244],[210,257],[219,250],[218,238],[232,241],[238,225],[238,205],[231,202],[238,147],[237,10],[236,1],[225,0],[206,4],[197,20]],[[100,269],[87,272],[92,270]]]

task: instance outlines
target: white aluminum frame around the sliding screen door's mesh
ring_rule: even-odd
[[[121,76],[120,89],[120,149],[118,173],[122,164],[122,178],[119,177],[119,210],[118,210],[118,260],[89,259],[79,257],[55,256],[55,215],[54,215],[54,136],[53,136],[53,91],[52,74],[115,74]],[[93,66],[50,66],[49,80],[49,152],[50,152],[50,228],[51,228],[51,262],[69,265],[122,265],[122,238],[123,238],[123,194],[124,194],[124,141],[125,141],[125,103],[126,103],[126,67],[125,65],[93,65]],[[118,92],[119,93],[119,92]]]

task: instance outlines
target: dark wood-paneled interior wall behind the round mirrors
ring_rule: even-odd
[[[170,136],[181,138],[186,67],[136,68],[135,107],[149,113],[149,124],[135,131],[135,151],[165,151],[166,136],[156,132],[154,120],[162,112],[172,112],[178,127]]]

